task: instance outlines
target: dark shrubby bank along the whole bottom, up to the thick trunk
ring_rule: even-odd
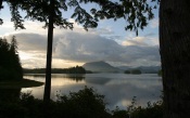
[[[2,90],[3,91],[3,90]],[[3,93],[1,91],[1,93]],[[10,91],[10,90],[9,90]],[[147,107],[135,106],[135,100],[126,109],[116,107],[114,110],[105,108],[104,95],[93,89],[85,87],[68,95],[58,95],[56,101],[48,105],[42,100],[30,94],[20,93],[0,96],[0,118],[162,118],[163,104],[156,102]]]

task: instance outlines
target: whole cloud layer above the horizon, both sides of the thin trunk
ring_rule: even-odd
[[[94,34],[94,31],[76,30],[55,29],[53,67],[76,66],[93,61],[105,61],[115,65],[128,66],[160,64],[159,45],[153,41],[150,44],[151,40],[154,39],[147,37],[127,38],[119,44],[115,40]],[[22,64],[25,67],[45,67],[47,36],[34,32],[13,35],[18,41],[20,52],[25,53],[21,54]],[[11,38],[12,35],[7,37]]]

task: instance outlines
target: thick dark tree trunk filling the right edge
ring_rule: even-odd
[[[161,0],[165,118],[190,118],[190,1]]]

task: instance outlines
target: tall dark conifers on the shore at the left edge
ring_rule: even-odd
[[[0,80],[22,78],[23,69],[15,36],[12,37],[10,43],[5,38],[0,38]]]

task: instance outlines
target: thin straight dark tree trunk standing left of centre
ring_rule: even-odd
[[[47,67],[43,101],[49,102],[51,95],[51,62],[52,62],[52,44],[53,44],[53,16],[54,0],[50,0],[50,16],[48,24],[48,47],[47,47]]]

